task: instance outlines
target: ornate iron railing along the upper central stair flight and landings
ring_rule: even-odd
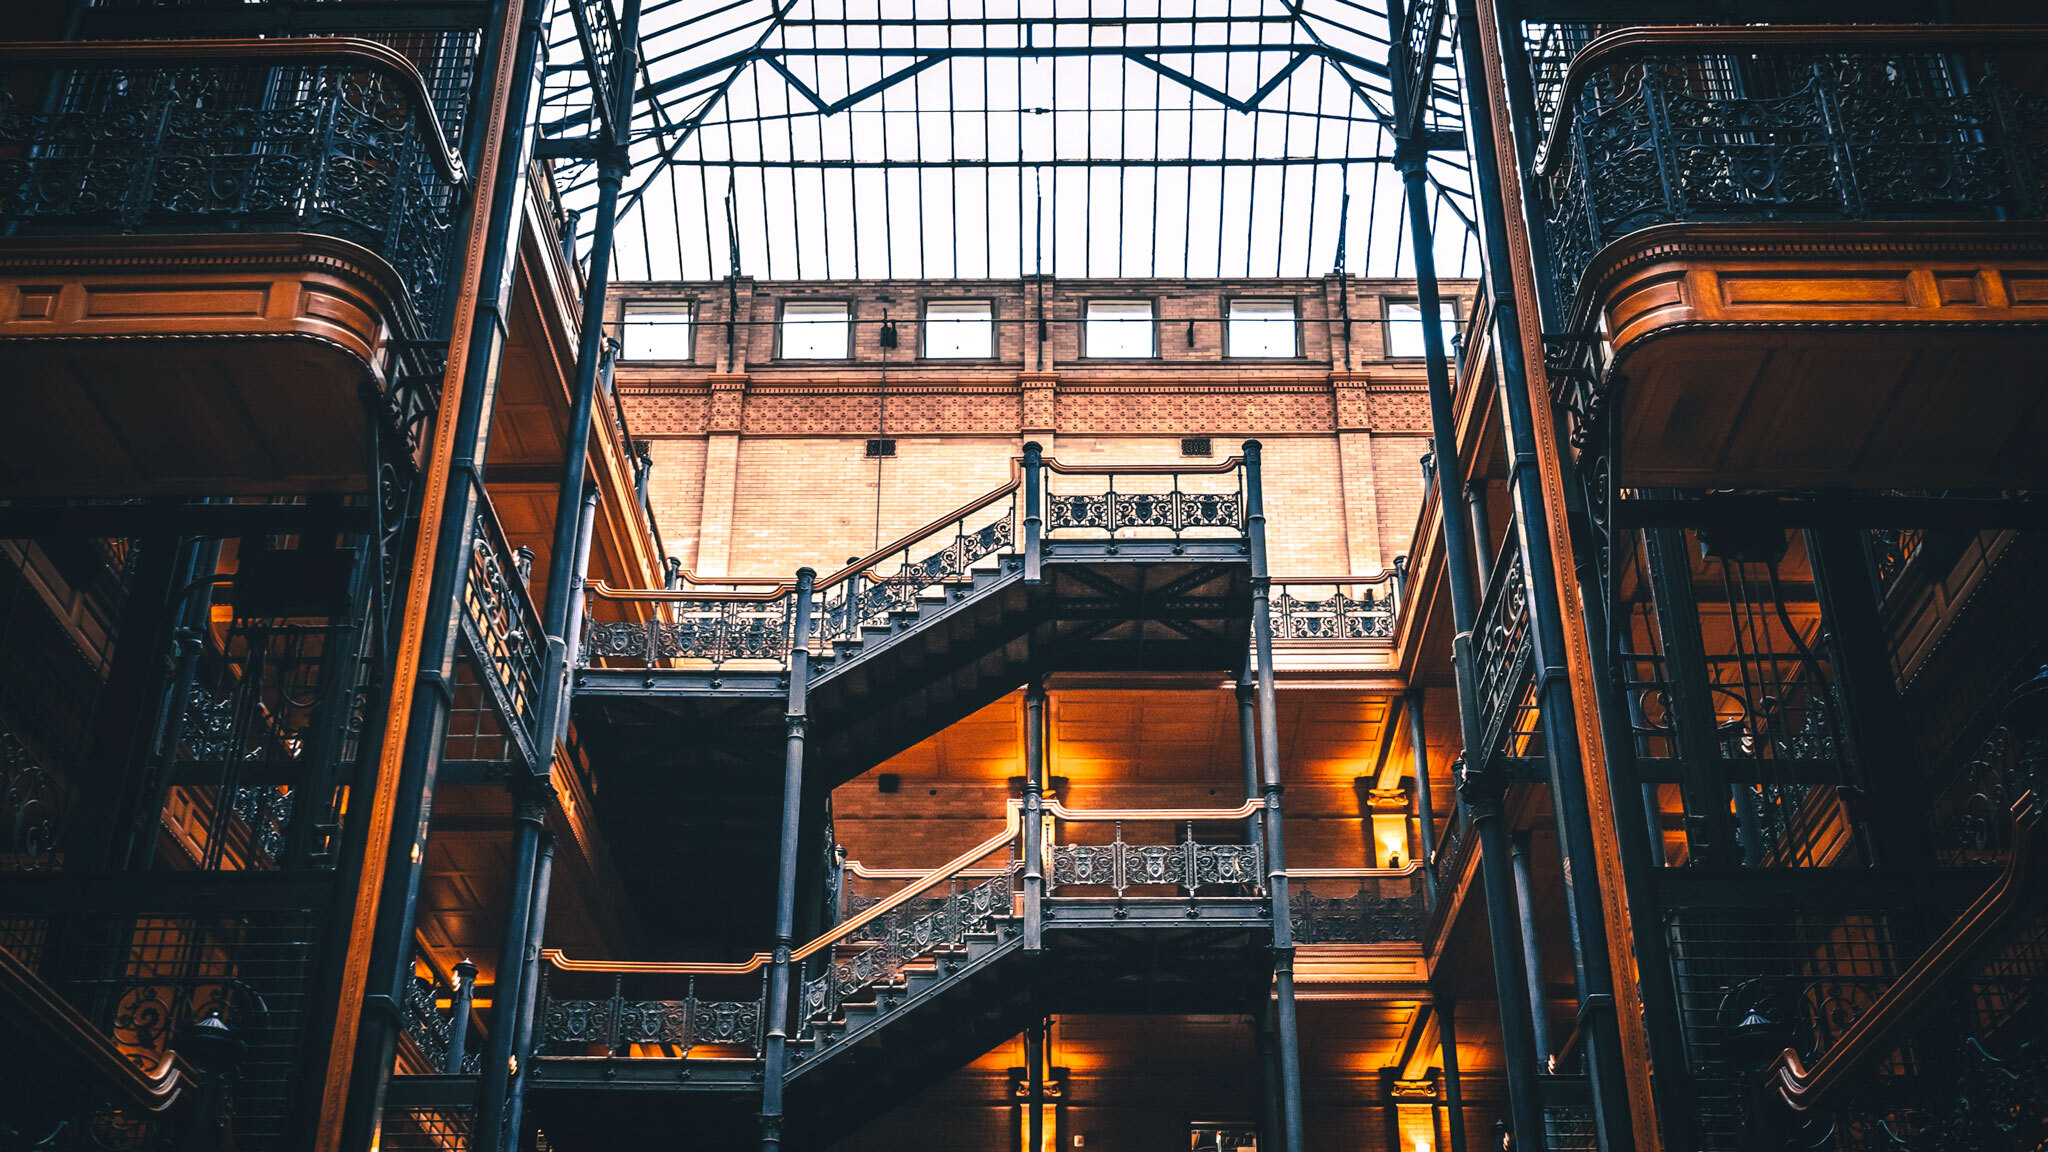
[[[1245,469],[1239,457],[1204,467],[1094,469],[1047,459],[1040,523],[1047,549],[1061,537],[1110,537],[1114,551],[1126,539],[1241,539],[1245,533]],[[1143,490],[1120,490],[1139,478]],[[862,640],[862,629],[913,613],[928,599],[944,599],[993,572],[1022,543],[1032,508],[1024,506],[1022,465],[1006,484],[913,529],[813,586],[815,652]],[[1178,547],[1178,545],[1176,545]],[[733,662],[786,666],[797,584],[784,576],[682,574],[686,590],[623,590],[598,582],[592,605],[655,605],[643,621],[584,621],[582,664],[709,664]],[[1348,609],[1370,619],[1360,605]]]

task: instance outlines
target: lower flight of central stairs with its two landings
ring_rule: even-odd
[[[1116,832],[1047,847],[1042,947],[1024,933],[1030,886],[1014,863],[1024,822],[1012,804],[997,836],[795,949],[786,1146],[823,1148],[1044,1013],[1249,1013],[1266,998],[1272,918],[1257,849],[1194,834],[1241,828],[1251,804],[1049,810],[1065,828]],[[1126,826],[1178,826],[1182,838],[1126,842]],[[707,1134],[705,1146],[758,1140],[768,963],[547,953],[528,1093],[553,1146],[612,1148],[678,1125]],[[725,988],[750,992],[717,998]]]

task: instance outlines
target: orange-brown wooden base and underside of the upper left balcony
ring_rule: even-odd
[[[0,494],[358,492],[403,289],[328,236],[0,248]]]

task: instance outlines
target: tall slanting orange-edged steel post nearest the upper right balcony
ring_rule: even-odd
[[[1489,12],[1487,18],[1495,14]],[[1571,933],[1573,982],[1579,994],[1579,1033],[1593,1088],[1593,1123],[1599,1146],[1606,1152],[1622,1152],[1636,1144],[1634,1121],[1628,1107],[1628,1076],[1622,1068],[1620,1023],[1614,1015],[1614,970],[1608,953],[1606,912],[1599,904],[1599,865],[1593,857],[1585,767],[1579,756],[1579,713],[1567,672],[1565,613],[1559,601],[1556,560],[1550,551],[1550,512],[1544,502],[1538,461],[1542,449],[1536,443],[1530,377],[1522,355],[1524,320],[1516,301],[1507,203],[1501,187],[1493,107],[1485,90],[1493,82],[1493,72],[1487,66],[1479,20],[1479,2],[1458,0],[1458,72],[1466,78],[1466,148],[1473,158],[1485,287],[1493,303],[1495,375],[1507,443],[1507,494],[1516,510],[1524,592],[1528,594],[1544,760],[1550,769],[1550,812],[1556,822],[1563,863],[1565,922]],[[1520,25],[1501,31],[1503,35],[1522,35]]]

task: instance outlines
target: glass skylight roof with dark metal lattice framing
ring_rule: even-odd
[[[555,139],[602,119],[575,12],[549,33]],[[651,0],[616,277],[1409,275],[1395,35],[1350,0]],[[1419,121],[1456,131],[1434,57]],[[588,234],[596,164],[557,172]],[[1464,275],[1464,156],[1430,176]]]

